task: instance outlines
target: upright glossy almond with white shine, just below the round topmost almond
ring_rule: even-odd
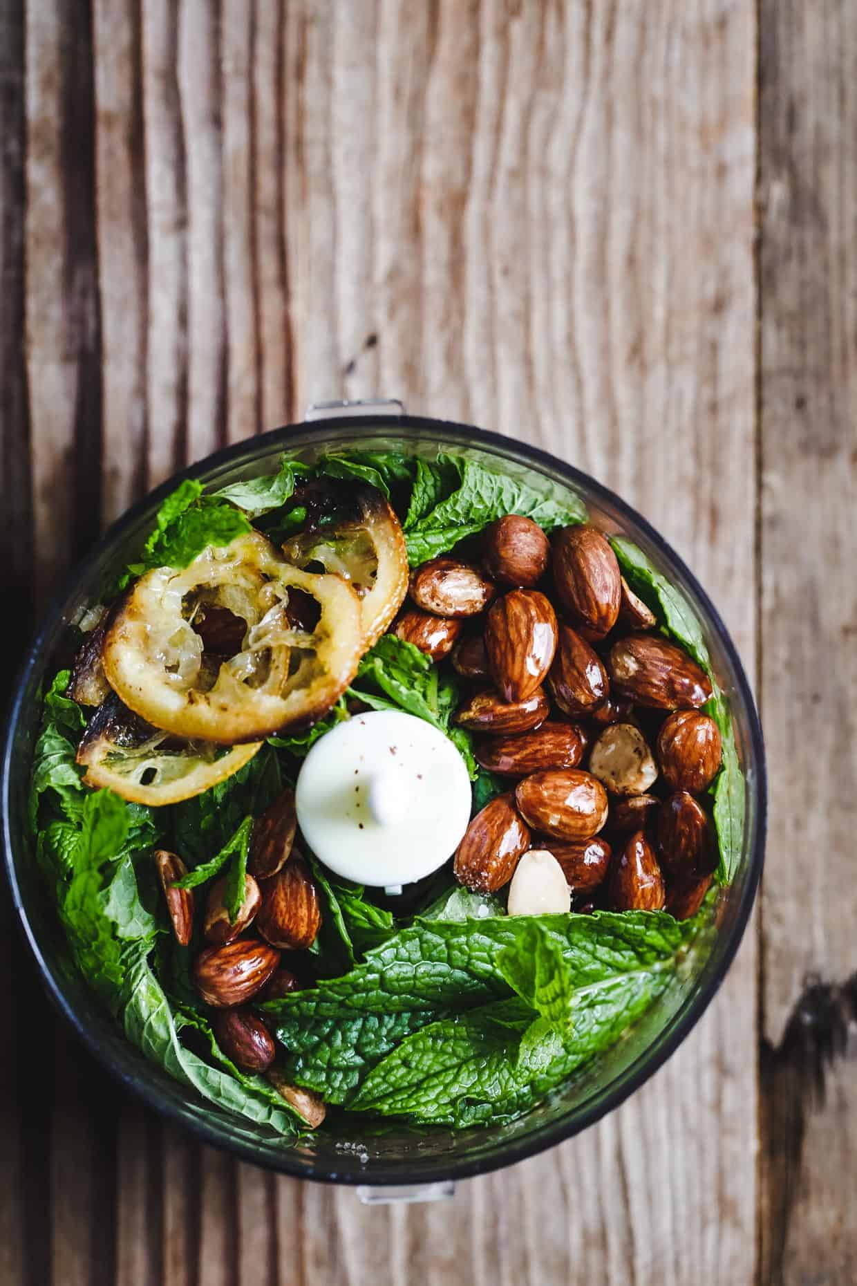
[[[491,606],[484,644],[502,700],[526,701],[551,667],[556,613],[537,589],[513,589]]]

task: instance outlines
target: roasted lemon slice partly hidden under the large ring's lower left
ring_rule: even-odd
[[[110,693],[89,721],[77,747],[87,786],[107,786],[135,804],[177,804],[202,795],[253,757],[261,741],[245,746],[177,741],[127,710]]]

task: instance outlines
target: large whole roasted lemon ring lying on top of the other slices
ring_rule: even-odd
[[[293,624],[289,592],[320,608]],[[204,652],[194,617],[226,608],[245,624],[233,656]],[[190,741],[258,741],[328,712],[365,651],[361,603],[339,576],[287,563],[260,532],[208,548],[181,571],[141,576],[104,639],[113,691],[155,728]]]

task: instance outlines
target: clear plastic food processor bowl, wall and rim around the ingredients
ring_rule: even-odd
[[[266,1129],[198,1100],[148,1062],[99,1007],[82,979],[64,963],[62,930],[40,883],[26,822],[40,716],[39,687],[55,669],[69,622],[84,604],[96,601],[108,576],[139,550],[164,495],[185,477],[225,486],[240,477],[272,472],[284,448],[306,451],[308,458],[320,451],[367,448],[416,454],[433,454],[438,448],[464,450],[490,458],[495,468],[535,472],[560,489],[574,491],[597,526],[636,541],[684,590],[702,622],[714,673],[730,701],[747,783],[747,811],[740,865],[731,887],[720,895],[716,928],[691,954],[672,989],[618,1044],[511,1124],[464,1132],[394,1127],[373,1136],[371,1128],[361,1128],[357,1118],[339,1136],[322,1130],[311,1139],[284,1146]],[[298,1178],[402,1190],[481,1174],[552,1147],[618,1106],[657,1071],[702,1016],[735,955],[762,869],[764,810],[762,733],[738,653],[708,595],[657,531],[587,475],[545,451],[466,424],[412,415],[347,413],[275,430],[194,464],[130,509],[76,568],[50,608],[17,683],[3,764],[5,856],[18,914],[50,997],[104,1066],[164,1116],[243,1160]],[[393,1188],[389,1191],[392,1195]]]

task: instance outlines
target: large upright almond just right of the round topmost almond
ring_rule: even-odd
[[[592,640],[613,629],[622,602],[622,574],[596,527],[563,527],[554,538],[554,584],[572,621]]]

